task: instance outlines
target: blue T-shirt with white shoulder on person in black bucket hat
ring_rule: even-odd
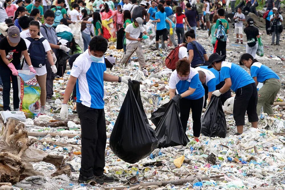
[[[236,92],[238,88],[255,83],[249,73],[235,63],[223,61],[220,72],[223,73],[224,79],[231,78],[231,89],[234,92]]]

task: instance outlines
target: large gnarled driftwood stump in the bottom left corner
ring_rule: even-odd
[[[9,119],[1,123],[0,136],[0,182],[17,183],[26,177],[43,175],[35,171],[30,162],[48,162],[56,167],[51,176],[71,173],[71,168],[64,162],[63,156],[51,155],[42,150],[29,147],[33,140],[28,138],[25,125],[18,120]]]

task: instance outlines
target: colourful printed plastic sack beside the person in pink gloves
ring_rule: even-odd
[[[18,70],[18,73],[19,108],[27,118],[32,118],[40,113],[40,86],[36,74],[30,70]]]

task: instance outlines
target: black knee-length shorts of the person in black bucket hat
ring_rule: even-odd
[[[245,112],[247,112],[249,122],[258,121],[256,113],[257,88],[255,83],[238,88],[233,104],[233,118],[235,125],[245,124]]]

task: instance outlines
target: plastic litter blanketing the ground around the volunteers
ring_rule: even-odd
[[[211,54],[212,46],[208,46],[209,40],[204,39],[205,36],[207,36],[206,32],[199,32],[198,41],[203,44],[207,53]],[[245,52],[245,46],[234,45],[237,44],[230,42],[231,50],[227,51],[229,54],[227,61],[237,62],[237,55],[242,51]],[[268,51],[265,50],[265,58],[260,57],[260,62],[267,65],[267,59],[272,60],[272,58],[266,52]],[[140,94],[144,112],[149,126],[155,130],[154,124],[150,121],[151,113],[169,102],[168,80],[172,71],[164,66],[167,52],[154,50],[152,46],[144,44],[147,63],[144,70],[139,69],[136,54],[133,54],[125,68],[120,65],[119,61],[123,52],[115,50],[113,42],[109,42],[106,56],[110,54],[117,57],[117,63],[112,71],[106,72],[116,76],[131,75],[133,80],[141,82]],[[275,61],[284,67],[282,60]],[[275,65],[276,63],[272,61],[269,64]],[[125,83],[110,82],[104,83],[107,127],[104,169],[106,174],[115,177],[115,182],[95,186],[78,184],[81,162],[81,126],[74,103],[68,103],[68,120],[70,121],[64,125],[56,125],[60,121],[59,112],[69,77],[70,68],[67,68],[61,79],[54,80],[55,102],[47,105],[47,115],[39,116],[37,119],[29,118],[22,122],[28,130],[29,138],[37,140],[32,148],[44,150],[50,154],[64,155],[65,162],[72,166],[72,175],[62,174],[51,177],[50,174],[55,170],[52,164],[35,163],[33,168],[44,173],[44,176],[27,177],[15,184],[14,189],[85,190],[127,189],[129,187],[141,189],[141,186],[151,189],[256,189],[265,187],[285,189],[284,107],[275,106],[274,116],[262,114],[258,129],[251,128],[246,116],[244,133],[240,136],[234,135],[237,132],[235,122],[233,115],[228,111],[225,113],[226,137],[201,136],[200,142],[194,141],[190,114],[186,131],[189,142],[187,141],[186,146],[156,148],[146,158],[130,164],[115,156],[110,148],[110,136],[127,95],[128,86]],[[285,78],[281,75],[280,78],[282,78],[283,88],[278,93],[277,101],[285,101]],[[0,102],[2,103],[2,96]],[[165,182],[158,183],[159,181]],[[142,185],[142,183],[145,184]]]

